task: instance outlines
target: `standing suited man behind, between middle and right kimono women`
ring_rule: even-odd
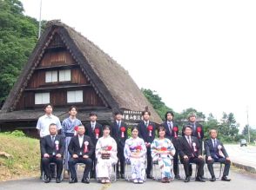
[[[155,124],[150,121],[151,113],[148,110],[142,112],[143,121],[138,123],[138,136],[145,141],[146,153],[147,153],[147,167],[146,167],[146,177],[152,179],[152,152],[151,144],[155,139]]]

